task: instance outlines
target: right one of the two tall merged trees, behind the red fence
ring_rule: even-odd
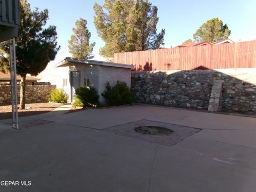
[[[158,49],[164,41],[165,30],[156,33],[158,22],[157,7],[144,0],[134,3],[128,18],[127,49],[144,51]]]

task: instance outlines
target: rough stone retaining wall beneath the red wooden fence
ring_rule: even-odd
[[[222,81],[221,110],[256,114],[256,69],[132,71],[135,101],[205,109],[214,80]]]

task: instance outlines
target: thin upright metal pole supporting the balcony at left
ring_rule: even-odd
[[[12,127],[19,129],[18,123],[18,99],[17,99],[17,78],[16,78],[16,52],[15,38],[9,39],[11,87],[12,87]]]

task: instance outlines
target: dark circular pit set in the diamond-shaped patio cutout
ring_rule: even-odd
[[[173,133],[172,130],[159,126],[138,126],[134,128],[134,131],[149,135],[169,135]]]

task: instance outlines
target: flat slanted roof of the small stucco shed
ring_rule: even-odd
[[[77,58],[70,58],[70,57],[66,57],[57,65],[55,65],[55,67],[68,67],[68,66],[74,66],[77,64],[88,64],[88,65],[98,65],[98,66],[118,67],[118,68],[128,68],[128,69],[133,68],[132,65],[127,65],[127,64],[97,61],[97,60],[91,60],[91,59],[77,59]]]

